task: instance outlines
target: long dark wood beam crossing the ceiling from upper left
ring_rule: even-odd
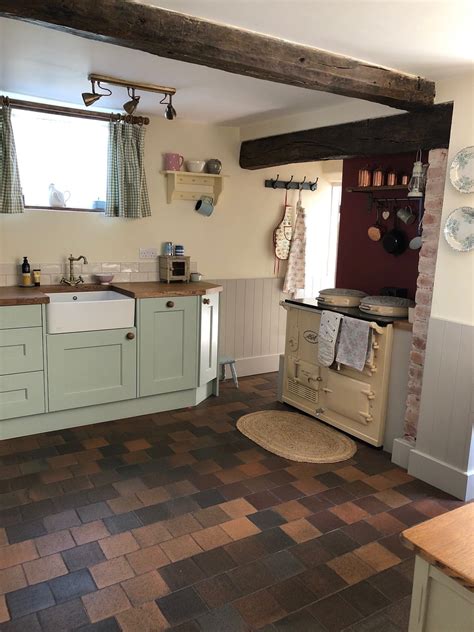
[[[0,16],[402,110],[434,100],[434,83],[420,77],[128,0],[0,0]]]

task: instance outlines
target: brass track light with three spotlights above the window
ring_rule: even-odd
[[[98,101],[103,96],[110,96],[112,91],[108,88],[103,88],[101,83],[109,83],[114,86],[123,86],[127,88],[128,96],[130,100],[123,104],[123,109],[129,115],[133,114],[138,107],[140,102],[140,96],[135,94],[135,90],[145,90],[147,92],[158,92],[163,94],[163,98],[160,103],[166,105],[165,108],[165,118],[168,121],[172,121],[176,118],[176,110],[173,107],[173,95],[176,94],[176,88],[168,88],[166,86],[156,86],[151,83],[134,83],[132,81],[127,81],[126,79],[116,79],[114,77],[107,77],[105,75],[89,75],[89,81],[92,85],[92,92],[83,92],[82,100],[84,101],[84,105],[89,107],[93,105],[96,101]],[[95,91],[95,85],[101,89],[106,90],[107,92],[98,93]]]

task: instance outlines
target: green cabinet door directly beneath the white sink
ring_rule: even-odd
[[[50,334],[49,410],[105,404],[137,396],[135,329]]]

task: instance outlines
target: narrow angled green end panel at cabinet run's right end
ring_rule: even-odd
[[[217,345],[219,342],[219,293],[201,296],[201,340],[199,353],[199,386],[217,377]]]

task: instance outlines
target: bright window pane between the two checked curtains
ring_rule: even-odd
[[[12,124],[26,207],[49,208],[54,184],[67,208],[103,210],[107,121],[13,109]]]

